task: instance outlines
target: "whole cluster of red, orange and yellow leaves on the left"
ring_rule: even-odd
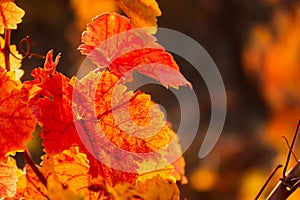
[[[21,82],[24,57],[16,46],[10,45],[10,33],[11,29],[17,29],[25,12],[13,0],[0,0],[0,33],[4,35],[4,39],[0,38],[0,198],[179,199],[176,182],[185,183],[186,179],[176,134],[163,123],[164,114],[149,95],[126,91],[124,80],[121,83],[119,80],[128,70],[136,68],[165,86],[178,88],[190,83],[179,73],[172,55],[156,43],[151,35],[155,32],[153,28],[131,33],[126,37],[130,41],[119,37],[109,48],[99,50],[99,45],[114,35],[136,27],[155,27],[156,17],[161,15],[154,0],[115,2],[128,18],[116,13],[98,15],[82,35],[79,49],[98,70],[81,80],[70,79],[56,71],[60,55],[54,59],[53,51],[49,51],[44,67],[32,71],[34,79]],[[143,48],[149,42],[155,48]],[[139,48],[122,55],[128,45],[139,45]],[[163,78],[147,65],[153,63],[165,66],[159,68]],[[115,107],[111,105],[113,91],[119,97]],[[92,96],[95,102],[91,102]],[[135,124],[163,124],[161,129],[151,137],[142,138],[121,129],[113,110],[123,115],[128,110],[124,105],[126,99]],[[32,162],[26,150],[37,124],[42,127],[45,152],[40,165]],[[78,134],[78,129],[83,135]],[[132,154],[111,156],[114,150],[107,140]],[[27,161],[23,169],[17,168],[11,157],[17,151],[23,152]],[[149,152],[157,153],[147,160],[131,156]],[[174,157],[179,159],[171,163]],[[124,163],[129,163],[121,166],[124,170],[111,167]],[[155,166],[164,167],[145,173]],[[127,168],[133,169],[128,172]]]

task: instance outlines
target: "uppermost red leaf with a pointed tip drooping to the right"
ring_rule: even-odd
[[[108,67],[118,77],[131,79],[136,70],[164,86],[191,84],[179,72],[173,56],[156,43],[155,37],[143,29],[134,29],[126,17],[119,14],[103,14],[88,24],[82,35],[79,49],[87,55],[100,70]]]

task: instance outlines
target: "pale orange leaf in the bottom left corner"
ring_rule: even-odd
[[[17,165],[13,158],[0,162],[0,199],[15,195],[18,181],[16,171]]]

